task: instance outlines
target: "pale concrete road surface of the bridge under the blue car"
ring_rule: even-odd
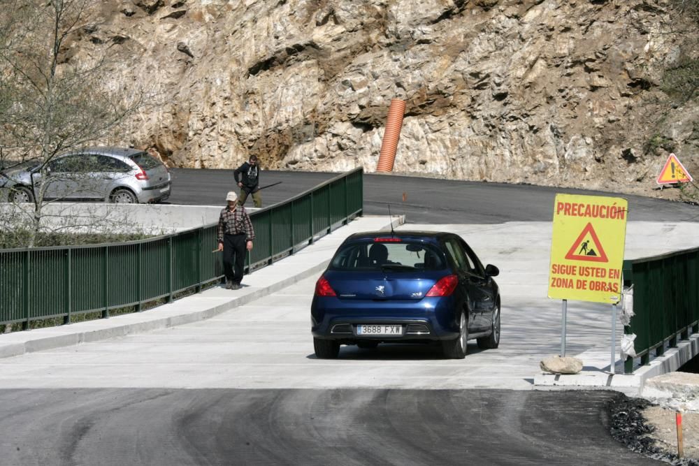
[[[359,225],[363,221],[368,220],[356,220]],[[361,229],[353,225],[356,228]],[[337,361],[319,360],[310,335],[314,276],[205,321],[1,359],[2,386],[530,390],[534,374],[540,372],[539,361],[559,354],[561,348],[561,301],[546,298],[550,224],[401,227],[406,228],[459,233],[484,263],[498,265],[503,303],[499,349],[480,350],[474,340],[466,359],[459,361],[443,359],[437,346],[387,344],[377,350],[343,347]],[[697,238],[697,228],[630,222],[627,257],[677,249],[687,238]],[[320,240],[317,247],[323,244]],[[332,251],[324,248],[324,254],[318,263],[329,259]],[[232,292],[217,288],[202,297],[226,293]],[[600,349],[609,355],[610,328],[610,306],[569,303],[568,354]]]

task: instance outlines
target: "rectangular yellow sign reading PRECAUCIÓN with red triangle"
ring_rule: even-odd
[[[556,194],[549,298],[618,303],[628,201]]]

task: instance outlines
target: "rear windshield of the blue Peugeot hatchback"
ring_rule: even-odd
[[[333,270],[368,271],[442,270],[444,255],[424,242],[353,242],[335,254],[330,263]]]

